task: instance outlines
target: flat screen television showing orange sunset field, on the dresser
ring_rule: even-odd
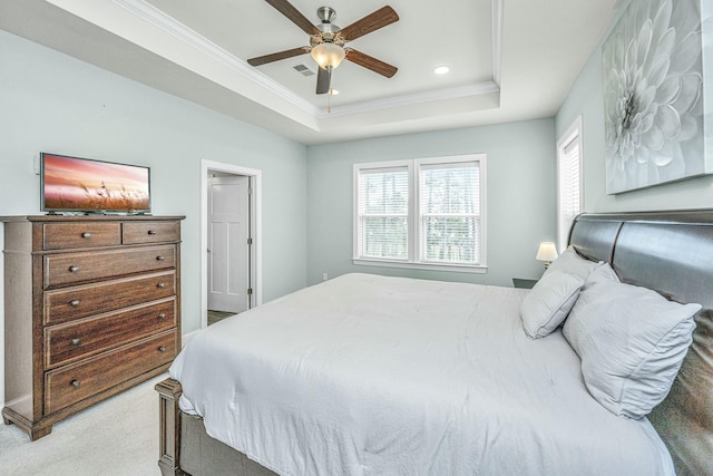
[[[150,213],[150,168],[40,154],[42,212]]]

